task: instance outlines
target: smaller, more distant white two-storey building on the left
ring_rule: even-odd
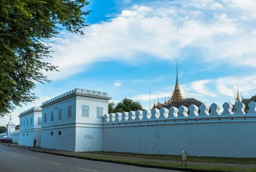
[[[32,147],[35,139],[36,147],[40,147],[42,109],[40,107],[32,107],[20,113],[18,117],[20,118],[19,145]]]

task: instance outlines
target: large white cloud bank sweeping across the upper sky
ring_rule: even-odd
[[[184,1],[176,3],[184,5],[182,2]],[[59,66],[61,72],[47,73],[49,79],[61,79],[82,72],[91,68],[91,64],[95,62],[122,60],[140,63],[134,59],[141,53],[174,60],[179,58],[183,48],[190,46],[198,47],[207,54],[197,57],[201,62],[211,61],[218,65],[221,58],[221,63],[253,65],[256,51],[253,39],[255,40],[256,35],[251,37],[252,32],[244,34],[244,25],[240,23],[244,18],[239,20],[239,17],[232,18],[224,11],[214,11],[212,15],[215,14],[215,18],[205,21],[200,9],[211,6],[222,9],[218,2],[190,0],[188,4],[198,9],[135,5],[108,22],[85,28],[85,35],[63,32],[61,38],[51,43],[55,53],[52,54],[53,59],[49,59],[49,62]],[[235,57],[233,50],[238,52]],[[247,61],[244,61],[245,55],[248,56]],[[231,61],[230,58],[235,60]]]

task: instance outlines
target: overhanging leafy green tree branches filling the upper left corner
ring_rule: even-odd
[[[35,82],[50,82],[42,71],[58,71],[46,62],[49,39],[62,29],[84,34],[81,8],[87,0],[0,0],[0,117],[15,106],[38,99]]]

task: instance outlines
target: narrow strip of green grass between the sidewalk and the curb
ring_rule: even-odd
[[[151,161],[136,161],[136,160],[127,160],[127,159],[97,157],[97,156],[90,156],[90,155],[78,155],[78,156],[85,157],[85,158],[96,158],[96,159],[130,162],[130,163],[137,163],[137,164],[158,165],[158,166],[172,166],[172,167],[193,168],[193,169],[215,169],[215,170],[241,171],[241,172],[256,172],[256,168],[237,168],[237,167],[200,166],[200,165],[181,166],[181,164],[169,164],[169,163],[160,163],[160,162],[151,162]]]

